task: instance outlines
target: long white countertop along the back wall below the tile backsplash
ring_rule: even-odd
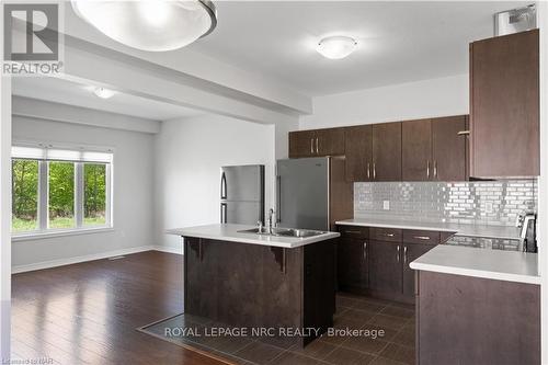
[[[367,217],[336,221],[336,225],[456,232],[457,236],[520,239],[520,230],[507,226],[461,225],[443,221]]]

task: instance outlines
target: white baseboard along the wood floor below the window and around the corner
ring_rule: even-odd
[[[107,252],[101,252],[101,253],[87,254],[87,255],[76,256],[76,258],[42,261],[42,262],[36,262],[36,263],[27,264],[27,265],[18,265],[18,266],[13,266],[11,269],[11,273],[12,274],[25,273],[28,271],[65,266],[65,265],[70,265],[70,264],[85,262],[85,261],[101,260],[101,259],[107,259],[107,258],[119,256],[119,255],[124,255],[124,254],[132,254],[132,253],[137,253],[137,252],[145,252],[145,251],[162,251],[162,252],[182,254],[181,250],[178,251],[176,249],[167,248],[163,246],[140,246],[140,247],[133,247],[133,248],[122,249],[122,250],[114,250],[114,251],[107,251]]]

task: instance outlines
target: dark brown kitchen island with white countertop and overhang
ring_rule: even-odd
[[[333,324],[336,232],[287,237],[244,225],[168,230],[184,238],[184,311],[306,345]],[[297,335],[284,335],[284,333]],[[271,335],[273,334],[273,335]]]

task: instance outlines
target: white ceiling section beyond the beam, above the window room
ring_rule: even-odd
[[[145,119],[167,121],[203,112],[119,92],[111,99],[93,94],[94,85],[50,77],[13,78],[12,93],[19,96],[95,109]]]

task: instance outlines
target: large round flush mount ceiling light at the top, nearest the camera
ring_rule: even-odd
[[[84,21],[127,46],[164,52],[184,47],[217,25],[209,0],[71,0]]]

